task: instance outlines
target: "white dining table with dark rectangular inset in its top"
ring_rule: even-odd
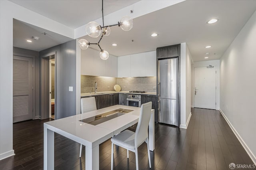
[[[98,125],[91,125],[80,121],[116,109],[129,109],[132,111]],[[140,110],[140,107],[114,105],[44,123],[44,170],[54,170],[54,132],[84,145],[86,147],[85,169],[98,170],[99,145],[126,128],[138,123]],[[148,131],[150,151],[154,151],[154,131],[154,109],[152,109]]]

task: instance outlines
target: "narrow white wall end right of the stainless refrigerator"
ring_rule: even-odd
[[[186,43],[180,44],[180,127],[187,128],[191,113],[191,55]]]

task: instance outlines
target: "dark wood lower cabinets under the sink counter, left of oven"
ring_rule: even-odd
[[[108,95],[97,95],[94,97],[95,97],[97,109],[102,109],[105,107],[118,105],[118,102],[119,102],[118,93],[117,94],[108,94]]]

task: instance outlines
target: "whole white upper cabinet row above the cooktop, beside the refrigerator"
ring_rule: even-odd
[[[118,77],[156,76],[156,51],[118,57]]]

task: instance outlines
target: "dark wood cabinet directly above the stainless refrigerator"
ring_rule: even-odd
[[[180,56],[180,44],[170,45],[166,47],[158,47],[156,48],[156,56],[158,59],[178,57]]]

